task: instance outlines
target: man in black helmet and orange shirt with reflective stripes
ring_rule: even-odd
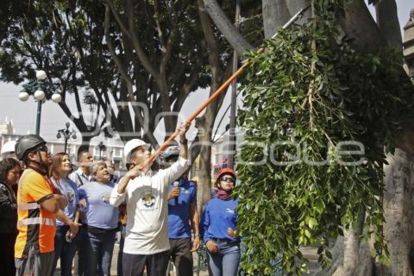
[[[16,155],[26,165],[17,196],[16,275],[50,275],[55,251],[55,214],[66,207],[66,197],[55,194],[48,177],[52,158],[45,140],[38,135],[19,138]]]

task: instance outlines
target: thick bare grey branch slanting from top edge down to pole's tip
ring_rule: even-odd
[[[228,43],[230,43],[239,55],[243,55],[246,49],[253,48],[230,22],[216,0],[204,0],[204,5],[214,24],[216,24],[220,32],[226,37]],[[202,8],[202,11],[204,11],[204,8]]]

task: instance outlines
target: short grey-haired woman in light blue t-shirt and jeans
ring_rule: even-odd
[[[104,161],[91,165],[92,181],[81,186],[79,192],[86,197],[87,207],[83,224],[86,227],[86,276],[109,276],[115,234],[118,227],[118,208],[109,203],[115,184]]]

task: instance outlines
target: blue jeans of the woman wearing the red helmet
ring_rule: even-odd
[[[208,275],[237,276],[240,263],[240,244],[234,241],[213,239],[218,252],[210,253],[207,249]]]

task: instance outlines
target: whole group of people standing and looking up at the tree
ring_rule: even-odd
[[[150,145],[125,144],[128,172],[118,179],[107,161],[49,153],[37,135],[19,138],[14,152],[0,161],[0,266],[5,276],[53,276],[60,260],[62,276],[111,275],[116,233],[121,232],[117,274],[166,276],[169,262],[177,276],[193,274],[193,252],[207,248],[211,276],[237,275],[240,237],[235,227],[238,200],[232,197],[236,175],[221,170],[218,192],[197,212],[196,184],[188,180],[186,133],[163,152],[161,169],[146,166]]]

